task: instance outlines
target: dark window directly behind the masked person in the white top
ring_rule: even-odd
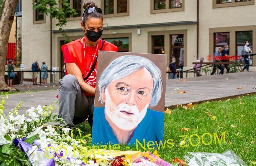
[[[246,40],[249,41],[252,51],[252,31],[236,32],[236,55],[242,55]]]

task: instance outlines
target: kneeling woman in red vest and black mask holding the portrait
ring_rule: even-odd
[[[102,10],[93,1],[85,1],[83,7],[80,24],[85,36],[61,47],[66,75],[59,86],[59,117],[71,129],[87,118],[92,127],[98,51],[118,50],[100,39]]]

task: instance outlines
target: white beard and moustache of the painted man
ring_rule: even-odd
[[[138,124],[145,117],[148,105],[139,112],[136,105],[129,106],[126,103],[121,103],[117,106],[114,105],[108,90],[105,90],[105,115],[121,130],[134,130]]]

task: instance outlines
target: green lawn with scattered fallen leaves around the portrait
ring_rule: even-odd
[[[165,114],[164,117],[164,136],[163,140],[172,139],[174,147],[157,149],[160,158],[172,163],[174,157],[183,159],[187,152],[209,152],[223,153],[225,150],[232,150],[248,165],[253,165],[251,161],[256,162],[256,95],[244,96],[224,101],[213,101],[210,103],[202,103],[196,105],[194,109],[185,110],[183,107],[173,109],[170,115]],[[212,114],[209,116],[207,114]],[[212,117],[216,116],[215,120]],[[231,125],[236,127],[231,127]],[[85,124],[77,125],[84,134],[90,134],[90,126]],[[190,130],[181,132],[181,128],[190,128]],[[214,133],[218,136],[225,133],[225,142],[222,138],[221,144],[214,142]],[[212,135],[213,141],[209,145],[202,143],[202,135],[209,133]],[[189,137],[197,134],[200,137],[200,144],[192,146]],[[184,145],[188,147],[180,147],[179,143],[184,139],[181,135],[187,135]],[[75,138],[79,135],[74,133]],[[204,142],[210,142],[210,136],[204,136]],[[89,144],[90,142],[88,142]],[[192,136],[192,144],[197,144],[197,136]],[[125,150],[125,146],[121,146],[120,150]],[[126,149],[127,150],[127,149]],[[137,150],[136,147],[130,150]],[[142,151],[154,152],[155,149],[146,148]]]

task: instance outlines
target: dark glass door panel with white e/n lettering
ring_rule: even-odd
[[[171,39],[170,62],[172,61],[172,57],[175,57],[176,66],[178,66],[180,62],[184,63],[184,34],[170,35],[170,39]]]

